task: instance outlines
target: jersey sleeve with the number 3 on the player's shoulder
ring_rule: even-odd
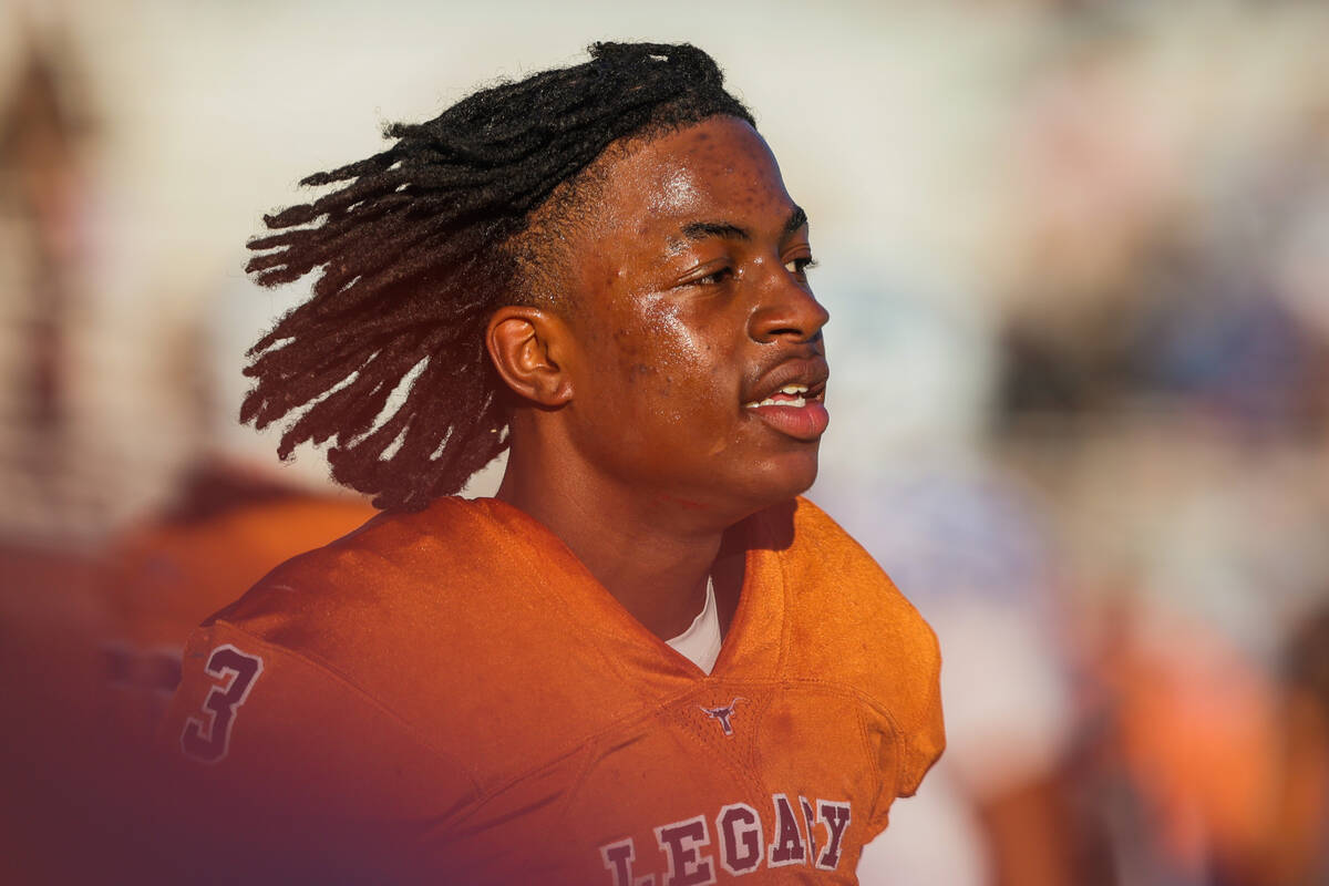
[[[477,794],[465,765],[330,667],[226,622],[191,636],[157,740],[185,842],[241,870],[380,879]]]

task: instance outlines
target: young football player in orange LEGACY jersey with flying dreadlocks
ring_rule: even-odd
[[[388,134],[253,243],[322,276],[243,413],[303,409],[282,450],[388,513],[205,623],[166,739],[340,874],[855,882],[941,752],[938,655],[796,498],[827,312],[747,109],[692,46],[598,44]]]

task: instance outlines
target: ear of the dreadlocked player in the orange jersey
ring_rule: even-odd
[[[571,356],[570,345],[567,324],[533,307],[501,307],[485,329],[489,359],[504,383],[541,406],[561,406],[573,399],[573,383],[562,364]]]

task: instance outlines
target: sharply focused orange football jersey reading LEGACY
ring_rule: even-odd
[[[191,638],[162,737],[379,881],[853,883],[941,753],[937,643],[811,502],[736,531],[706,675],[512,506],[381,517]]]

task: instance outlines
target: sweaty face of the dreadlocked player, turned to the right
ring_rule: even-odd
[[[808,223],[746,122],[716,117],[607,162],[573,234],[578,453],[618,484],[726,515],[812,485],[828,315]]]

